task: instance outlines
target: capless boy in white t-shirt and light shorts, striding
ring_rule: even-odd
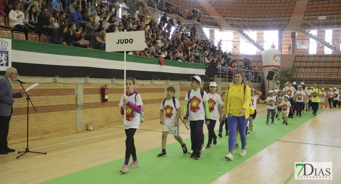
[[[167,98],[165,98],[160,105],[160,124],[162,124],[162,151],[158,154],[158,157],[167,156],[166,143],[167,135],[171,133],[174,138],[180,143],[184,154],[187,153],[186,144],[183,143],[182,138],[179,136],[179,124],[180,124],[180,103],[179,100],[174,97],[175,87],[167,87]],[[163,118],[163,114],[165,117]]]

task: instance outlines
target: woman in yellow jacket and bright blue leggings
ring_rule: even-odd
[[[241,139],[240,156],[245,156],[246,144],[246,127],[250,118],[249,107],[251,102],[250,87],[244,84],[244,75],[241,71],[234,74],[234,81],[226,89],[224,99],[223,118],[227,117],[229,137],[228,137],[228,153],[225,155],[227,160],[233,160],[233,146],[235,144],[235,134],[238,125],[239,135]],[[245,90],[245,91],[244,91]]]

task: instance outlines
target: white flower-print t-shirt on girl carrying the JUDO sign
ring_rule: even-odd
[[[121,101],[118,104],[118,106],[123,105],[123,97],[124,95],[122,95]],[[140,94],[136,94],[136,101],[135,101],[135,94],[132,94],[131,96],[125,96],[125,98],[127,98],[127,100],[131,102],[132,104],[134,104],[135,106],[143,105]],[[130,129],[130,128],[138,129],[139,124],[140,124],[140,114],[134,111],[132,108],[130,108],[129,105],[127,105],[127,108],[125,110],[124,129]]]

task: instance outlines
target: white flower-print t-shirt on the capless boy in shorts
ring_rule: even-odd
[[[162,100],[162,102],[163,102],[163,100]],[[176,109],[181,107],[180,102],[178,99],[175,99],[175,106],[173,103],[173,99],[166,100],[165,105],[163,105],[162,102],[160,105],[160,109],[164,110],[163,124],[168,125],[168,126],[174,126],[176,116],[178,114]],[[178,122],[178,124],[180,124],[180,121]]]

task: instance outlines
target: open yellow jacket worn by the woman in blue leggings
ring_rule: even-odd
[[[235,85],[235,83],[231,83],[229,84],[229,88],[231,89],[233,86]],[[241,84],[242,86],[244,86],[244,83]],[[243,101],[243,106],[242,108],[245,108],[245,119],[247,119],[250,116],[250,103],[251,103],[251,91],[250,91],[250,87],[248,85],[246,85],[245,88],[245,95],[244,95],[244,87],[241,88],[241,93],[240,93],[240,98]],[[230,92],[228,91],[228,88],[226,89],[226,94],[225,94],[225,99],[224,99],[224,109],[223,109],[223,114],[227,114],[230,111]],[[228,116],[227,116],[228,117]]]

